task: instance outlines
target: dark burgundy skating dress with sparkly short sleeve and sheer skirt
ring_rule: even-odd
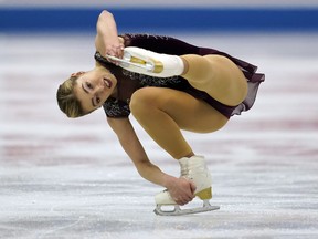
[[[109,63],[98,52],[95,53],[95,60],[108,69],[117,79],[117,96],[109,97],[103,107],[107,117],[128,117],[130,114],[129,102],[132,93],[140,87],[156,86],[169,87],[187,92],[197,98],[201,98],[219,111],[221,114],[230,118],[233,115],[240,115],[244,111],[248,111],[256,98],[259,84],[265,80],[265,75],[256,73],[257,66],[235,59],[224,52],[209,48],[199,48],[188,44],[178,39],[161,35],[149,34],[124,34],[125,46],[144,48],[158,53],[182,55],[182,54],[219,54],[232,60],[244,73],[248,83],[248,93],[246,98],[237,106],[227,106],[211,97],[208,93],[192,87],[189,82],[181,76],[172,77],[153,77],[129,72],[119,66]]]

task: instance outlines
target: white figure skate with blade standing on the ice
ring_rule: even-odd
[[[211,206],[209,200],[212,198],[211,174],[206,167],[204,157],[193,156],[191,158],[181,158],[181,177],[192,180],[197,186],[194,195],[203,200],[203,207],[192,209],[181,209],[180,206],[171,198],[168,190],[161,191],[155,196],[155,214],[161,216],[180,216],[188,214],[198,214],[220,209],[219,206]],[[173,206],[173,210],[162,210],[162,206]]]

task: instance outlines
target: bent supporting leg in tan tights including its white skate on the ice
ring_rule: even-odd
[[[219,209],[209,204],[212,198],[212,181],[205,160],[203,157],[193,156],[194,154],[180,129],[200,133],[213,132],[224,126],[227,118],[205,102],[184,92],[161,87],[145,87],[135,92],[130,110],[153,141],[172,157],[180,159],[181,177],[195,184],[194,195],[204,201],[203,208],[166,214],[161,210],[162,205],[179,207],[169,191],[162,191],[155,197],[157,202],[155,212],[180,215]]]

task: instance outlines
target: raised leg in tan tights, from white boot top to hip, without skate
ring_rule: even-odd
[[[247,94],[247,83],[242,71],[221,55],[182,55],[186,70],[181,75],[189,83],[206,92],[216,101],[235,106]]]

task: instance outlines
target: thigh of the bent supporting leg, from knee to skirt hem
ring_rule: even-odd
[[[229,118],[205,102],[192,95],[165,87],[145,87],[138,90],[139,100],[167,113],[181,129],[210,133],[223,127]]]

